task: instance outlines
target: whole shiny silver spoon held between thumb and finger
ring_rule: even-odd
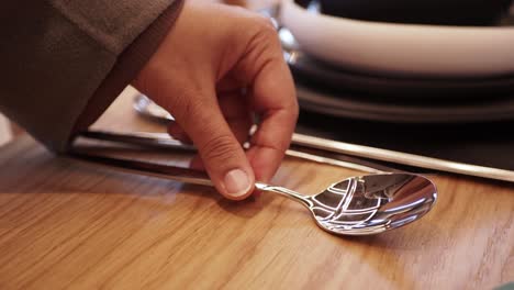
[[[71,152],[70,156],[124,171],[213,187],[204,172],[192,169],[115,159],[79,150]],[[262,182],[256,182],[255,187],[300,202],[310,210],[321,228],[338,235],[371,235],[403,226],[426,214],[437,199],[435,185],[413,174],[350,177],[314,196]]]

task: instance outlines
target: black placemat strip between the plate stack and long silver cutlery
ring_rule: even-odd
[[[297,132],[470,165],[514,170],[514,122],[396,124],[301,111]]]

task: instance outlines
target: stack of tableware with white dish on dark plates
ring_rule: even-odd
[[[446,19],[459,25],[350,19],[331,15],[329,0],[282,1],[280,38],[301,108],[386,123],[514,120],[514,13],[500,1],[503,13],[482,11],[480,25],[465,23],[470,15]]]

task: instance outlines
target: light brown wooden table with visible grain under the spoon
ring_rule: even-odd
[[[96,127],[164,131],[128,89]],[[169,156],[168,156],[169,157]],[[320,230],[295,202],[0,150],[0,289],[492,289],[514,280],[514,188],[439,175],[434,210],[369,237]],[[273,183],[317,192],[360,172],[287,158]]]

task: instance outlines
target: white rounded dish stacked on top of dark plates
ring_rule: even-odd
[[[350,20],[283,0],[280,21],[308,54],[348,69],[422,77],[514,72],[513,26],[444,26]]]

